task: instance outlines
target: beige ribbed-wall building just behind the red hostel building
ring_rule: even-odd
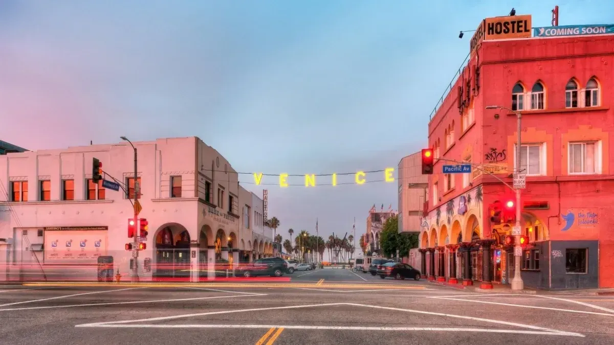
[[[398,163],[398,231],[420,232],[429,179],[422,175],[422,153],[403,157]]]

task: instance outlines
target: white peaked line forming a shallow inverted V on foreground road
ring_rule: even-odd
[[[303,304],[303,305],[298,305],[298,306],[282,306],[282,307],[269,307],[269,308],[252,308],[252,309],[236,309],[236,310],[228,310],[228,311],[200,312],[200,313],[196,313],[196,314],[184,314],[184,315],[176,315],[176,316],[150,317],[148,319],[96,322],[96,323],[93,323],[93,324],[75,325],[75,327],[114,327],[115,325],[122,325],[120,327],[134,327],[134,325],[126,325],[126,324],[130,324],[132,322],[150,322],[150,321],[161,321],[161,320],[173,320],[173,319],[181,319],[181,318],[184,318],[184,317],[194,317],[194,316],[232,314],[232,313],[236,313],[236,312],[270,311],[270,310],[281,310],[281,309],[300,309],[300,308],[314,308],[314,307],[321,307],[321,306],[341,306],[341,305],[346,305],[346,306],[362,306],[362,307],[374,308],[374,309],[386,309],[386,310],[392,310],[392,311],[414,312],[416,314],[456,317],[458,319],[473,320],[473,321],[479,321],[479,322],[489,322],[491,324],[507,325],[507,326],[514,326],[514,327],[520,327],[520,328],[529,328],[530,330],[545,331],[547,334],[574,335],[574,336],[582,336],[583,337],[583,335],[581,335],[580,333],[558,331],[558,330],[553,330],[553,329],[550,329],[550,328],[543,328],[543,327],[538,327],[538,326],[533,326],[533,325],[518,324],[516,322],[507,322],[507,321],[500,321],[500,320],[483,319],[481,317],[463,316],[463,315],[455,315],[455,314],[443,314],[441,312],[418,311],[418,310],[414,310],[414,309],[401,309],[401,308],[392,308],[392,307],[383,307],[383,306],[373,306],[373,305],[369,305],[369,304],[359,304],[359,303]],[[169,326],[171,326],[171,325],[169,325]],[[150,327],[150,326],[147,326],[147,327]],[[268,327],[268,328],[271,328],[271,327]],[[475,328],[469,328],[469,329],[475,329]],[[509,331],[510,332],[514,332],[515,330],[509,330]]]

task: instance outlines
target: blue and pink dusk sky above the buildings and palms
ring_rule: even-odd
[[[550,26],[555,5],[559,25],[614,21],[612,1],[2,0],[0,139],[39,150],[198,136],[241,172],[396,167],[426,146],[468,54],[473,33],[459,31],[512,7]],[[268,188],[284,239],[314,234],[316,219],[324,238],[350,235],[354,218],[359,238],[373,204],[397,209],[397,182],[241,181]]]

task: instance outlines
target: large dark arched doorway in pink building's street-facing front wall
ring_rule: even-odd
[[[166,224],[155,235],[157,279],[190,279],[190,234],[179,224]]]

